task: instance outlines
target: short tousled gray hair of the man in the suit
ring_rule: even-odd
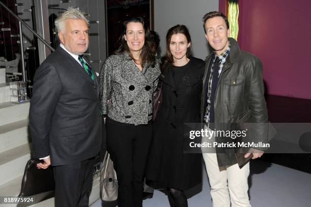
[[[86,24],[88,24],[88,20],[85,18],[84,13],[79,10],[79,8],[69,7],[66,12],[61,14],[55,20],[57,32],[59,31],[65,32],[65,22],[67,19],[80,19],[84,20]]]

